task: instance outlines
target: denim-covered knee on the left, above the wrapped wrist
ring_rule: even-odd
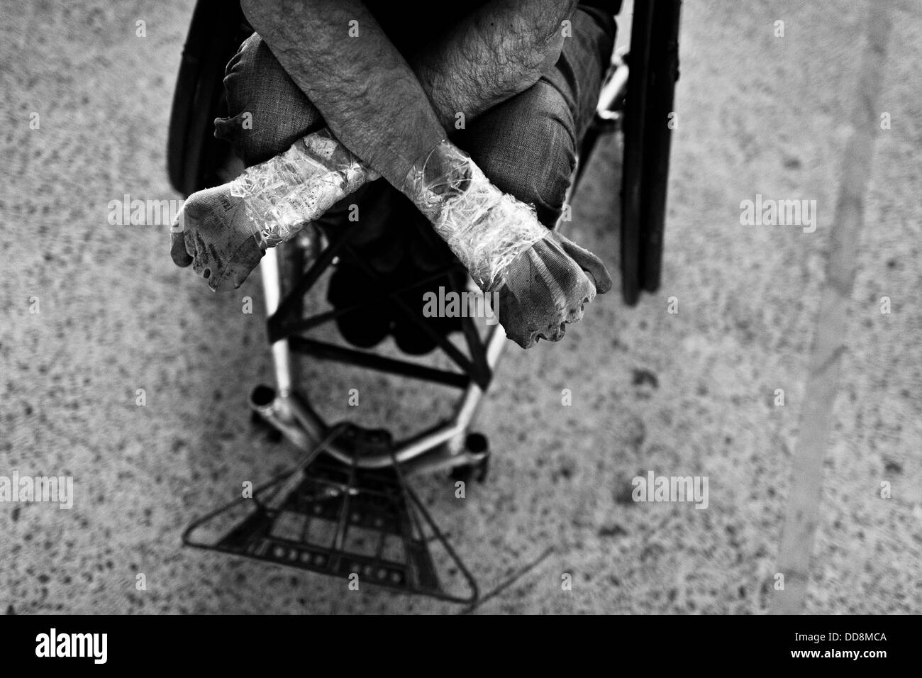
[[[254,33],[227,65],[228,117],[215,136],[231,142],[246,164],[263,162],[322,124],[320,114]]]

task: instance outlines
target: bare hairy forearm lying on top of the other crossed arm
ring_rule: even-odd
[[[241,6],[336,137],[403,190],[410,168],[446,135],[419,79],[371,12],[359,0]],[[349,37],[350,26],[358,37]]]

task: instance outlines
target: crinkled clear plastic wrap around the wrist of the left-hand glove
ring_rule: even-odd
[[[231,182],[231,195],[243,199],[254,233],[274,247],[377,178],[377,172],[322,129],[275,158],[247,168]]]

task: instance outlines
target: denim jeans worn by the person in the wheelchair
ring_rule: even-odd
[[[549,228],[560,216],[615,37],[614,18],[601,10],[580,6],[572,22],[573,35],[550,73],[452,136],[493,184],[533,204]],[[324,124],[258,35],[231,59],[224,84],[231,116],[215,121],[215,134],[231,141],[247,165],[278,155]]]

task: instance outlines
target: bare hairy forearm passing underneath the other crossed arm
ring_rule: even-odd
[[[413,59],[446,129],[525,91],[557,63],[578,0],[494,0]]]

